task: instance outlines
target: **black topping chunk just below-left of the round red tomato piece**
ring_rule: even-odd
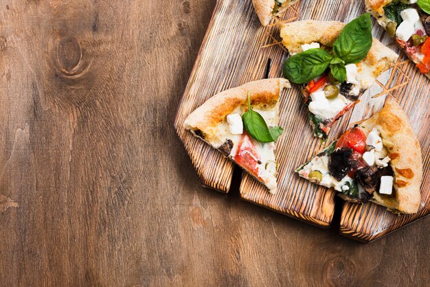
[[[341,181],[352,170],[354,163],[350,161],[351,154],[352,148],[340,148],[330,154],[328,171],[337,181]]]

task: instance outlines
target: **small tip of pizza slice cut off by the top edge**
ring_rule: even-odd
[[[252,0],[261,25],[267,26],[272,18],[281,16],[286,8],[295,4],[298,0]]]

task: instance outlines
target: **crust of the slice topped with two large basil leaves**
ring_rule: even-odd
[[[281,26],[282,44],[288,49],[288,52],[293,54],[301,52],[302,45],[313,42],[332,47],[345,25],[338,21],[313,20],[286,23]],[[376,78],[380,73],[392,67],[397,58],[398,55],[392,49],[373,38],[372,47],[361,62],[374,67],[372,73]]]

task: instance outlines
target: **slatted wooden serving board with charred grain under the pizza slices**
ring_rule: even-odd
[[[363,1],[321,0],[312,1],[312,5],[308,5],[309,2],[302,0],[295,4],[280,21],[315,19],[348,22],[365,12]],[[392,39],[385,36],[375,21],[373,35],[400,53]],[[282,76],[282,63],[287,53],[282,45],[277,44],[279,41],[278,25],[262,27],[251,0],[218,0],[174,122],[203,185],[220,192],[229,192],[234,163],[184,130],[185,117],[220,91],[267,75],[269,78]],[[389,91],[389,96],[396,97],[403,106],[418,134],[425,174],[421,189],[422,205],[418,214],[413,216],[395,216],[372,203],[343,204],[339,201],[342,205],[339,232],[363,242],[381,238],[426,216],[430,211],[430,176],[427,172],[430,158],[430,113],[427,108],[429,80],[402,54],[398,65],[383,73],[378,81],[379,84],[374,84],[361,97],[361,103],[335,124],[328,143],[339,137],[350,124],[378,111],[383,106],[387,93],[376,98],[372,98],[372,95]],[[280,100],[280,125],[284,128],[284,135],[277,141],[276,156],[280,166],[278,192],[275,195],[269,194],[264,186],[242,172],[240,196],[251,203],[328,228],[334,221],[335,192],[317,187],[294,173],[295,168],[324,146],[313,137],[301,92],[297,85],[293,86],[282,93]],[[393,87],[397,88],[391,89]]]

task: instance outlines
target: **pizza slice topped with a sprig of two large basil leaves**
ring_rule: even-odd
[[[337,21],[296,21],[281,27],[291,55],[284,76],[302,84],[308,117],[317,137],[359,102],[376,78],[398,55],[372,37],[370,14],[347,25]]]

